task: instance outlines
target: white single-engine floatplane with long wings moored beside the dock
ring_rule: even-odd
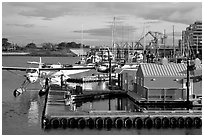
[[[2,70],[7,71],[23,71],[25,72],[24,82],[21,86],[14,90],[13,95],[15,97],[21,95],[26,91],[26,88],[29,84],[39,82],[42,89],[39,91],[39,95],[45,93],[49,86],[48,84],[61,84],[67,78],[69,78],[70,74],[81,73],[84,71],[88,71],[90,69],[95,69],[95,67],[89,66],[72,66],[72,65],[62,65],[58,64],[46,64],[42,63],[42,59],[40,57],[39,62],[27,62],[28,64],[37,64],[37,68],[33,67],[2,67]]]

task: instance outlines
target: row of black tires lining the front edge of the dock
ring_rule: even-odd
[[[96,117],[96,118],[44,118],[42,122],[44,129],[51,128],[201,128],[200,117]]]

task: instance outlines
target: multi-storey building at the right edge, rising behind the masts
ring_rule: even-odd
[[[202,54],[202,22],[196,21],[182,31],[183,51],[190,51],[190,54]]]

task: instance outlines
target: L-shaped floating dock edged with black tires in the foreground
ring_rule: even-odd
[[[201,128],[202,111],[74,111],[66,106],[63,87],[51,86],[46,95],[42,116],[42,128]],[[82,98],[105,97],[105,95],[127,95],[121,90],[89,91]],[[134,97],[133,97],[134,98]],[[71,105],[70,105],[71,107]],[[74,108],[74,106],[73,106]]]

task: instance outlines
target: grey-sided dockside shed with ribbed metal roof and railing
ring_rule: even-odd
[[[143,63],[136,72],[135,92],[147,100],[186,100],[187,65]],[[190,75],[190,97],[202,96],[202,65]]]

